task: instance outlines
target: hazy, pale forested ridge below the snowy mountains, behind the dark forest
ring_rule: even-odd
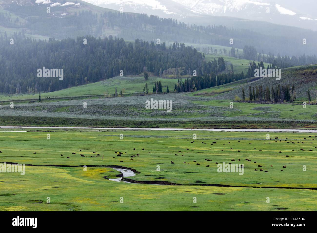
[[[248,45],[264,54],[279,53],[292,56],[317,53],[317,44],[313,43],[317,33],[305,29],[285,26],[281,31],[280,26],[270,24],[271,33],[261,33],[259,31],[262,24],[258,24],[258,31],[216,25],[216,21],[210,21],[208,26],[202,26],[147,14],[120,13],[80,0],[66,5],[63,3],[66,1],[62,0],[62,5],[52,6],[57,3],[37,4],[34,0],[0,0],[0,34],[4,34],[5,31],[20,31],[28,35],[56,39],[83,35],[113,35],[125,40],[134,41],[140,38],[151,41],[159,38],[165,42],[175,41],[177,38],[177,41],[182,43],[217,44],[241,49]],[[254,22],[254,26],[257,23]],[[290,33],[292,37],[288,37]],[[303,38],[307,40],[305,45],[302,44]],[[233,44],[229,43],[230,39],[233,39]],[[246,59],[249,59],[248,55]]]

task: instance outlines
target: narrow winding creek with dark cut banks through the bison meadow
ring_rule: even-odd
[[[0,162],[0,163],[7,163],[7,164],[17,164],[17,163],[12,163],[12,162]],[[78,166],[72,166],[72,165],[33,165],[33,164],[25,164],[25,166],[33,166],[33,167],[83,167],[85,165],[78,165]],[[177,184],[177,183],[172,183],[170,181],[156,181],[156,180],[133,180],[130,178],[124,178],[124,177],[132,177],[140,172],[136,171],[135,169],[129,168],[129,167],[124,167],[120,165],[86,165],[87,167],[111,167],[117,171],[120,172],[117,177],[121,177],[120,179],[110,179],[107,176],[104,176],[103,178],[107,180],[112,180],[112,181],[124,181],[125,183],[133,183],[133,184],[160,184],[160,185],[195,185],[195,186],[216,186],[216,187],[227,187],[227,188],[264,188],[264,189],[310,189],[310,190],[317,190],[317,188],[304,188],[304,187],[258,187],[258,186],[239,186],[239,185],[229,185],[229,184]],[[124,169],[128,170],[126,171],[126,176],[118,170],[118,169]]]

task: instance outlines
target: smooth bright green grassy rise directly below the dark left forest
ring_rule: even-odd
[[[115,93],[115,87],[117,87],[118,94],[120,94],[120,87],[124,95],[134,94],[134,93],[143,93],[143,87],[147,83],[149,88],[149,93],[153,92],[153,85],[155,82],[161,81],[163,86],[163,92],[166,92],[167,86],[169,86],[170,91],[174,90],[176,79],[165,79],[158,77],[149,77],[148,80],[145,80],[143,76],[132,76],[132,77],[113,77],[107,80],[89,83],[86,85],[81,85],[77,87],[70,87],[67,89],[41,93],[42,101],[46,101],[51,98],[92,98],[92,97],[102,97],[112,96]],[[38,101],[39,95],[33,94],[23,94],[23,95],[0,95],[0,101],[10,102],[12,100],[35,100]]]

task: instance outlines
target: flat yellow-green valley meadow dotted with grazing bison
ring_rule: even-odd
[[[10,131],[26,130],[0,131],[0,162],[87,165],[87,171],[83,167],[26,166],[25,175],[0,173],[0,210],[305,211],[317,207],[317,139],[313,133],[270,133],[271,140],[267,140],[266,132]],[[121,157],[115,152],[122,152]],[[243,164],[243,175],[219,173],[216,162]],[[112,165],[135,170],[137,175],[130,178],[144,184],[105,179],[120,174],[105,167]]]

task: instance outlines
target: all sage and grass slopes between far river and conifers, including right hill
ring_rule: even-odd
[[[300,72],[307,68],[314,69],[316,67],[317,65],[312,65],[283,70],[281,81],[290,85],[294,83],[296,87],[298,100],[293,104],[268,105],[235,102],[233,108],[229,107],[230,101],[233,101],[235,93],[242,86],[245,87],[246,95],[248,95],[247,87],[249,85],[276,85],[278,83],[275,79],[267,81],[263,78],[256,81],[249,78],[193,93],[104,99],[102,94],[106,92],[106,89],[109,94],[112,94],[115,86],[122,87],[126,89],[126,94],[129,94],[135,90],[141,92],[145,85],[142,77],[116,77],[98,83],[61,90],[56,92],[58,95],[53,92],[55,96],[61,97],[61,99],[47,98],[49,96],[42,94],[43,103],[20,104],[19,101],[14,100],[17,97],[13,96],[13,100],[3,102],[4,105],[0,107],[0,124],[184,128],[316,128],[316,105],[307,105],[306,108],[303,108],[300,101],[307,101],[305,97],[306,88],[310,88],[312,96],[314,96],[312,90],[316,87],[314,77],[303,78]],[[152,89],[151,80],[157,80],[157,78],[149,79],[150,91]],[[172,90],[175,81],[175,79],[163,79],[162,83],[165,86],[166,82],[171,82],[170,90]],[[165,89],[163,90],[165,91]],[[101,94],[100,99],[90,99],[93,94]],[[76,100],[76,95],[86,95],[86,100]],[[23,96],[23,98],[28,97]],[[74,100],[69,101],[67,98]],[[150,98],[171,100],[172,112],[145,109],[145,101]],[[54,100],[55,102],[48,100]],[[14,108],[10,108],[10,101],[14,102]],[[87,102],[87,108],[83,108],[83,101]],[[84,119],[89,119],[89,121]]]

